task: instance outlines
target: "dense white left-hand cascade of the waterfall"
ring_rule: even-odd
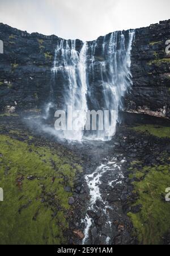
[[[81,141],[87,111],[87,43],[83,44],[80,53],[75,47],[76,40],[61,40],[57,45],[52,71],[56,81],[58,73],[62,74],[65,110],[67,106],[71,106],[73,110],[73,127],[76,132],[63,131],[63,137],[67,140]]]

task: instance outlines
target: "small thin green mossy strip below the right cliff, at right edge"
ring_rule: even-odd
[[[170,138],[170,127],[156,126],[156,125],[139,125],[133,127],[134,131],[150,133],[159,138],[168,137]]]

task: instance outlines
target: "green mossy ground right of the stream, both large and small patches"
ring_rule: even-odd
[[[161,145],[170,138],[170,127],[138,125],[131,129],[142,133],[142,136],[155,136]],[[133,206],[142,207],[138,213],[129,212],[128,216],[133,222],[139,243],[146,245],[163,244],[163,237],[170,232],[170,203],[165,200],[165,191],[170,187],[170,157],[166,150],[152,154],[158,158],[159,165],[145,166],[141,158],[140,161],[131,162],[129,168],[129,178],[136,180],[133,182],[133,193],[138,198]]]

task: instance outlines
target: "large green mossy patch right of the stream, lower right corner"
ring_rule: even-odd
[[[135,205],[142,205],[139,213],[128,213],[141,244],[162,244],[162,237],[170,229],[170,204],[165,202],[165,189],[170,184],[170,165],[145,167],[140,173],[145,178],[134,182]],[[138,170],[134,170],[134,175]]]

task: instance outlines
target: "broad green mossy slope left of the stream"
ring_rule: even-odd
[[[77,168],[68,153],[29,140],[0,135],[0,244],[65,244],[72,194],[64,187],[73,186]]]

